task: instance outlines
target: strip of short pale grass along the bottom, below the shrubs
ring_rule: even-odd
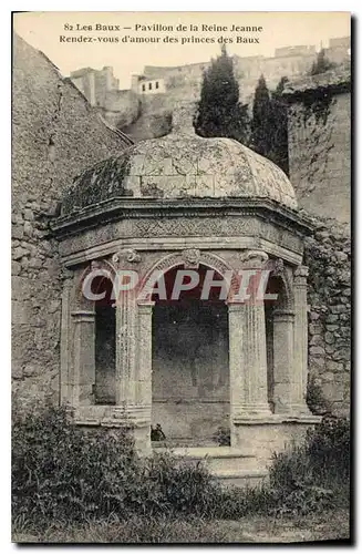
[[[91,520],[82,524],[54,523],[38,532],[13,530],[21,543],[288,543],[348,541],[349,511],[289,517],[245,516],[238,521],[200,517],[139,517]]]

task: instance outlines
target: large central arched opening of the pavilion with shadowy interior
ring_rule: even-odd
[[[163,277],[166,298],[153,295],[152,422],[175,443],[215,444],[229,432],[228,310],[220,287],[201,291],[207,271],[223,277],[200,265],[198,285],[173,300],[180,268]]]

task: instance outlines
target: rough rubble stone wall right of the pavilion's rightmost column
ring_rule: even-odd
[[[306,244],[309,266],[309,375],[337,413],[349,411],[351,357],[351,239],[335,220],[314,219]]]

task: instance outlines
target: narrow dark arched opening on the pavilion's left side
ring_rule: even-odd
[[[94,401],[115,403],[115,307],[113,284],[106,277],[95,277],[92,291],[104,298],[94,302],[95,311],[95,387]]]

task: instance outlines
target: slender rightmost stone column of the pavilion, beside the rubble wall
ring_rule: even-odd
[[[310,413],[306,404],[308,379],[308,315],[307,315],[308,267],[298,266],[294,271],[294,411]]]

